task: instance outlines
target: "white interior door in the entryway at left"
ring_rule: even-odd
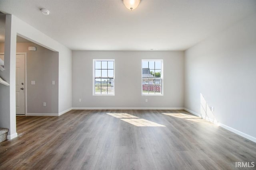
[[[16,115],[25,115],[25,54],[16,55]]]

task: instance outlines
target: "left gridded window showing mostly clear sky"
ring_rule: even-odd
[[[115,95],[115,60],[93,60],[93,95]]]

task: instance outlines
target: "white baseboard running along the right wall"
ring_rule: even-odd
[[[196,112],[194,112],[194,111],[192,111],[192,110],[189,110],[189,109],[186,109],[186,108],[184,108],[184,110],[186,110],[186,111],[188,111],[188,112],[190,112],[190,113],[192,113],[192,114],[194,114],[194,115],[196,115],[196,116],[198,116],[198,117],[202,117],[202,115],[200,115],[200,114],[198,114],[198,113],[196,113]],[[203,119],[205,119],[205,117],[202,117]],[[209,120],[209,121],[213,121],[213,120]],[[233,132],[233,133],[236,133],[237,135],[240,135],[240,136],[242,136],[242,137],[244,137],[244,138],[246,138],[246,139],[248,139],[248,140],[250,140],[250,141],[253,141],[253,142],[255,142],[256,143],[256,137],[252,137],[252,136],[250,136],[250,135],[248,135],[248,134],[246,134],[246,133],[243,133],[243,132],[241,132],[241,131],[238,131],[238,130],[236,130],[236,129],[234,129],[234,128],[232,128],[232,127],[229,127],[229,126],[227,126],[227,125],[224,125],[224,124],[222,124],[222,123],[218,123],[219,125],[220,125],[220,127],[223,127],[224,129],[226,129],[226,130],[228,130],[228,131],[231,131],[231,132]]]

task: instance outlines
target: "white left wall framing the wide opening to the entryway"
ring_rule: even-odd
[[[10,83],[10,86],[0,86],[0,126],[10,129],[8,139],[16,137],[15,115],[15,58],[16,58],[16,35],[26,38],[34,43],[59,52],[59,88],[58,88],[58,112],[72,107],[72,52],[54,39],[38,31],[31,25],[16,18],[6,15],[5,36],[5,63],[6,70],[0,75]],[[3,95],[2,95],[3,94]]]

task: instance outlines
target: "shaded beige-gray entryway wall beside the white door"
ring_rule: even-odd
[[[28,51],[29,46],[36,47],[36,51]],[[17,43],[16,52],[27,53],[27,113],[58,115],[58,52],[35,43]],[[4,53],[4,43],[0,43],[0,53]],[[36,84],[31,85],[31,80]],[[52,80],[55,85],[52,85]],[[46,102],[46,107],[43,102]]]

